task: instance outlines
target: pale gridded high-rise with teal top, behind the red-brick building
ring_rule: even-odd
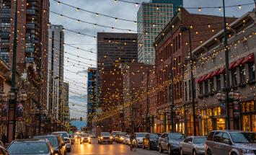
[[[182,0],[151,0],[141,4],[137,13],[139,63],[154,64],[154,39],[182,4]]]

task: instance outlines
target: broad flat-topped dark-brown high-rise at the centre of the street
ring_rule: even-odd
[[[97,113],[123,104],[123,71],[128,63],[137,62],[137,34],[98,32],[97,34]],[[110,98],[115,98],[110,102]],[[106,128],[120,128],[119,115],[102,122]],[[105,126],[104,125],[104,126]],[[99,125],[101,126],[101,125]]]

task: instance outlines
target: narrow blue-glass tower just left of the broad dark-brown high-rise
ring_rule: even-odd
[[[97,68],[88,68],[87,81],[87,127],[92,129],[92,115],[97,107]]]

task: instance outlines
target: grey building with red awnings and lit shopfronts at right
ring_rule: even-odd
[[[234,130],[256,131],[255,23],[255,12],[248,12],[228,26],[230,89],[242,94],[239,102],[229,102],[230,125]],[[211,130],[226,129],[226,106],[224,101],[219,101],[216,97],[216,93],[223,91],[226,84],[222,40],[223,30],[193,50],[196,60],[193,69],[197,97],[196,121],[197,133],[200,135],[206,135]],[[190,79],[190,76],[185,75],[185,118],[192,113],[189,95],[191,89],[186,87]]]

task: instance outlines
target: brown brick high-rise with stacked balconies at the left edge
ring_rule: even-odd
[[[17,72],[27,74],[26,107],[43,111],[46,105],[49,0],[0,0],[0,58],[12,68],[14,19],[17,14]],[[17,87],[19,87],[17,85]],[[31,109],[30,110],[34,110]],[[32,112],[26,112],[27,114]],[[25,134],[40,131],[40,117],[25,115],[32,123]],[[30,126],[31,125],[31,126]],[[36,130],[35,127],[36,126]]]

